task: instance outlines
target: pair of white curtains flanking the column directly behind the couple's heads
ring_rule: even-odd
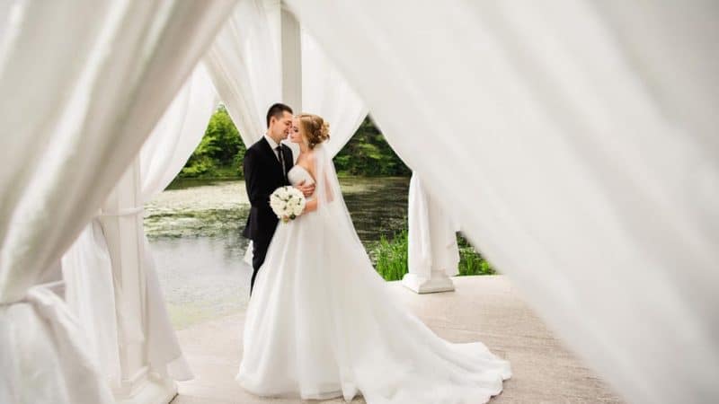
[[[367,107],[315,40],[306,31],[301,35],[302,108],[330,122],[328,146],[337,154]],[[237,4],[204,59],[245,145],[264,135],[267,109],[282,101],[280,48],[280,2],[248,0]]]

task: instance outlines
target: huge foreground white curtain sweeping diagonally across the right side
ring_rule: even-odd
[[[288,4],[627,400],[719,400],[715,2]]]

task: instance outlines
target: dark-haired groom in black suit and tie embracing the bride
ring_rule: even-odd
[[[244,186],[250,198],[250,215],[243,235],[253,241],[253,277],[250,281],[250,295],[253,293],[254,278],[262,267],[275,233],[279,219],[270,207],[270,195],[275,189],[290,185],[287,178],[294,164],[292,149],[280,142],[286,139],[292,129],[292,109],[285,104],[274,104],[267,110],[267,133],[244,154]],[[314,185],[297,185],[306,197],[315,191]]]

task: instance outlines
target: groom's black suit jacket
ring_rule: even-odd
[[[282,172],[282,163],[264,136],[244,154],[244,185],[252,207],[243,235],[254,242],[269,242],[274,235],[279,219],[270,207],[270,195],[275,189],[289,185],[287,173],[294,162],[292,149],[280,145],[285,172]]]

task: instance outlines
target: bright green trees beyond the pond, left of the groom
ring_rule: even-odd
[[[224,105],[209,124],[190,159],[180,172],[182,178],[241,177],[245,147]]]

